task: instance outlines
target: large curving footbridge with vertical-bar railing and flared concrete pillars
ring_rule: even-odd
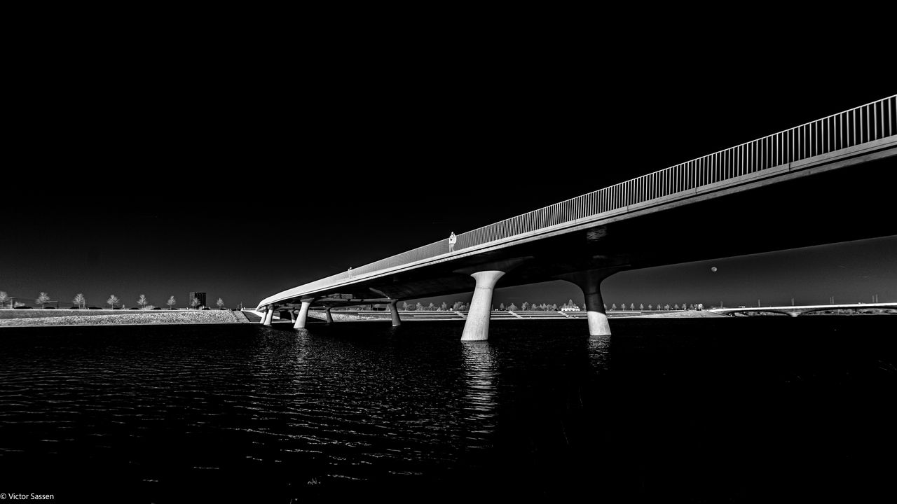
[[[646,148],[649,148],[646,139]],[[763,136],[448,240],[276,293],[275,310],[474,292],[462,340],[489,334],[496,286],[564,280],[585,296],[588,332],[609,335],[601,282],[617,272],[897,234],[897,95]],[[638,154],[631,154],[638,163]],[[488,188],[481,188],[483,195]],[[501,281],[501,285],[499,282]]]

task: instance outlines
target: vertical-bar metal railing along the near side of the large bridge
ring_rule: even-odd
[[[633,205],[696,192],[701,187],[720,182],[750,178],[767,170],[787,168],[789,163],[893,135],[897,135],[897,95],[461,233],[457,235],[455,250],[478,247],[580,219],[599,218],[602,214],[622,213]],[[357,276],[408,265],[447,252],[448,239],[443,239],[310,282],[302,286],[303,291],[317,291]]]

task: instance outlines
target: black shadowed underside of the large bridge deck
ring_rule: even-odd
[[[490,291],[491,299],[500,278],[500,287],[565,279],[578,283],[587,293],[587,308],[592,304],[603,315],[599,284],[622,269],[897,235],[897,219],[889,209],[893,187],[887,183],[897,173],[895,151],[892,147],[874,161],[840,169],[806,169],[791,178],[753,182],[748,190],[721,189],[472,256],[461,250],[448,261],[280,300],[276,306],[301,303],[307,310],[481,288]],[[472,276],[484,271],[497,273],[489,279]],[[583,277],[581,272],[590,273]],[[606,326],[606,317],[602,323]],[[591,324],[590,331],[595,334]]]

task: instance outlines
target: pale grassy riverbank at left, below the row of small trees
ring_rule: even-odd
[[[164,324],[240,324],[231,310],[3,310],[0,327],[147,326]]]

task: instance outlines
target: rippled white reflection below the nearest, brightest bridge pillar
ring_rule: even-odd
[[[461,342],[464,368],[463,408],[465,420],[471,421],[474,442],[485,446],[495,430],[495,408],[498,371],[495,350],[488,341]]]

